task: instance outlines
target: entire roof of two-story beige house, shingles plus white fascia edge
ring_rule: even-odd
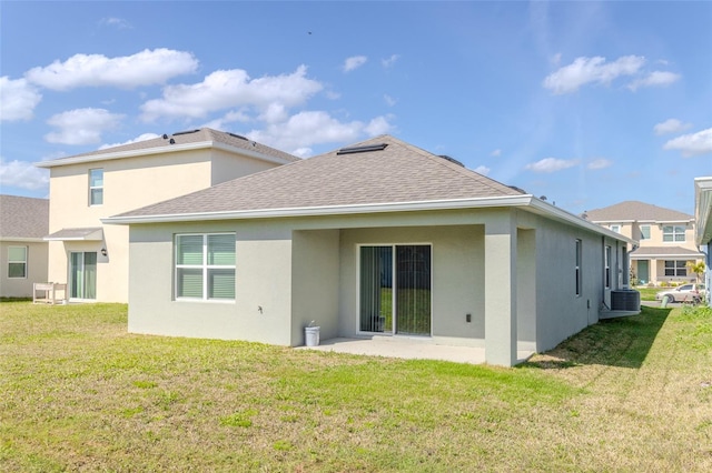
[[[165,138],[164,138],[165,137]],[[172,143],[171,143],[172,141]],[[187,151],[201,148],[218,148],[225,151],[246,154],[251,158],[277,162],[279,164],[300,161],[299,158],[251,141],[235,133],[202,128],[164,134],[151,140],[137,141],[135,143],[96,150],[88,153],[76,154],[50,161],[34,163],[38,168],[55,168],[58,165],[77,164],[82,162],[108,161],[122,158],[147,157],[175,151]]]

